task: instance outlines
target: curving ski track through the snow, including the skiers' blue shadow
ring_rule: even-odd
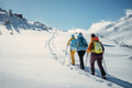
[[[63,51],[64,55],[61,55],[61,54],[57,52],[57,50],[56,50],[56,47],[55,47],[55,44],[54,44],[54,38],[55,38],[56,36],[57,36],[57,32],[54,32],[54,33],[53,33],[53,36],[47,41],[47,47],[50,48],[51,54],[53,55],[53,57],[54,57],[55,61],[58,61],[62,65],[69,67],[72,70],[78,72],[79,75],[84,75],[84,76],[86,76],[86,77],[88,77],[88,78],[91,78],[91,79],[98,81],[98,82],[103,82],[103,84],[106,84],[108,87],[112,87],[113,84],[116,84],[116,85],[121,86],[121,87],[123,87],[123,88],[132,88],[132,84],[130,84],[130,82],[128,82],[128,81],[124,81],[124,80],[121,80],[121,79],[119,79],[119,78],[117,78],[117,77],[114,77],[114,76],[111,76],[111,75],[109,75],[109,74],[107,75],[107,80],[100,78],[100,76],[99,76],[99,73],[100,73],[99,69],[96,69],[97,76],[92,76],[92,75],[90,75],[90,73],[89,73],[90,68],[89,68],[88,66],[86,67],[86,70],[79,69],[79,68],[78,68],[78,65],[73,66],[73,65],[70,64],[70,55],[67,54],[67,55],[65,56],[65,52],[66,52],[65,50]],[[114,47],[114,46],[110,45],[109,47]],[[66,61],[66,58],[68,58],[68,61]]]

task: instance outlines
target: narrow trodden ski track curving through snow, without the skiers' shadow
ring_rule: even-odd
[[[62,61],[62,58],[65,58],[65,56],[64,55],[61,55],[61,54],[57,54],[57,52],[55,52],[56,51],[56,47],[55,47],[55,45],[54,45],[54,38],[57,36],[57,32],[54,32],[54,34],[53,34],[53,36],[50,38],[50,41],[48,41],[48,48],[50,48],[50,51],[51,51],[51,53],[52,53],[52,55],[53,55],[53,57],[54,57],[54,59],[55,61],[58,61],[59,63],[62,63],[62,65],[66,65],[67,67],[69,67],[72,70],[77,70],[78,72],[78,74],[80,74],[80,75],[85,75],[86,77],[89,77],[89,78],[91,78],[91,79],[95,79],[96,81],[99,81],[99,82],[106,82],[107,84],[107,86],[109,86],[109,87],[112,87],[112,82],[110,82],[110,81],[107,81],[107,80],[105,80],[105,79],[102,79],[102,78],[99,78],[99,77],[96,77],[96,76],[92,76],[92,75],[90,75],[88,72],[85,72],[85,70],[81,70],[81,69],[79,69],[77,66],[72,66],[70,65],[70,61],[69,62],[66,62],[65,59],[63,59]],[[68,58],[69,58],[70,56],[69,56],[69,54],[68,54]],[[69,63],[69,64],[67,64],[67,63]],[[86,68],[88,68],[88,67],[86,67]]]

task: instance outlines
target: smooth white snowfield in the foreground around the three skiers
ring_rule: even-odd
[[[106,46],[105,62],[108,80],[101,79],[96,64],[96,76],[69,64],[65,58],[68,32],[21,31],[22,34],[0,36],[0,88],[131,88],[132,51],[119,47],[113,41],[101,38]],[[89,34],[84,36],[90,42]],[[89,57],[88,57],[89,59]],[[86,61],[86,55],[84,62]],[[85,62],[86,63],[86,62]]]

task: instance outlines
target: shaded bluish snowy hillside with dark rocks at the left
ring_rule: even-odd
[[[22,14],[12,13],[12,10],[7,12],[0,8],[0,34],[2,34],[4,30],[13,34],[13,32],[21,33],[21,30],[48,31],[52,30],[52,28],[41,22],[28,22]]]

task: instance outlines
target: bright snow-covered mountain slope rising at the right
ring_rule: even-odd
[[[127,10],[125,14],[117,22],[101,21],[94,23],[88,32],[114,40],[121,45],[132,46],[132,10]]]

